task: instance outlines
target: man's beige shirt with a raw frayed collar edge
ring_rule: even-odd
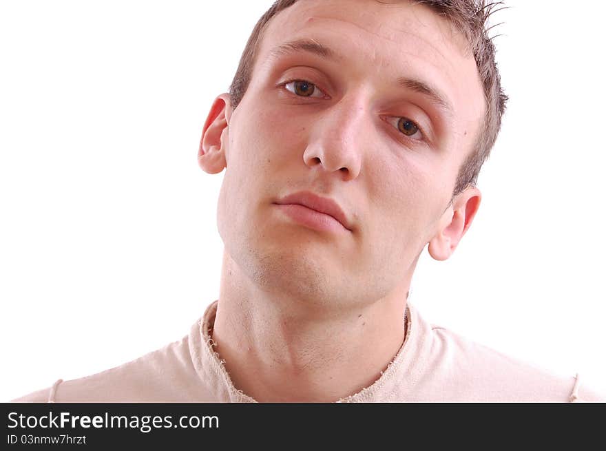
[[[233,386],[209,335],[213,302],[189,335],[116,368],[63,381],[15,402],[255,402]],[[406,339],[377,380],[338,402],[605,401],[575,377],[556,377],[432,326],[406,308]]]

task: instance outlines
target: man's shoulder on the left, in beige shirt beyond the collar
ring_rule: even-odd
[[[189,402],[200,384],[191,362],[189,337],[125,364],[53,386],[12,402]],[[192,397],[194,399],[192,399]]]

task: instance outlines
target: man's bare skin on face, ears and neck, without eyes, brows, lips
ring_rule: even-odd
[[[296,39],[337,59],[298,52]],[[401,76],[437,87],[447,116]],[[302,97],[292,78],[320,92]],[[289,90],[290,88],[290,90]],[[481,193],[452,198],[485,113],[472,54],[424,6],[302,0],[268,24],[236,109],[214,101],[198,160],[225,169],[218,201],[224,258],[216,350],[234,386],[257,401],[326,402],[379,379],[404,341],[404,312],[421,251],[446,260]],[[401,117],[424,134],[406,136]],[[318,231],[273,202],[309,190],[333,198],[351,231]]]

